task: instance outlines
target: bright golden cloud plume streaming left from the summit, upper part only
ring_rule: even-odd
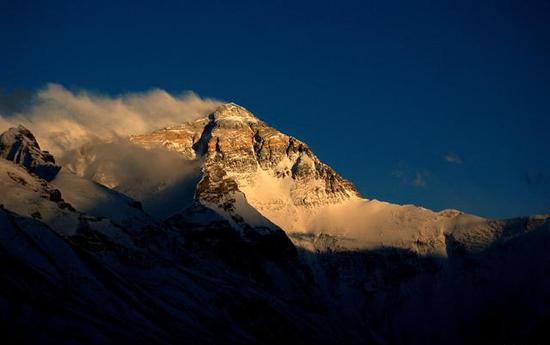
[[[15,95],[14,95],[15,97]],[[23,110],[0,101],[0,131],[22,124],[40,145],[56,156],[96,140],[112,140],[194,120],[222,102],[193,92],[171,95],[161,89],[112,97],[88,91],[71,91],[58,84],[38,90]]]

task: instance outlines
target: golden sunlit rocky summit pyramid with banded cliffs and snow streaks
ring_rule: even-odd
[[[233,210],[238,198],[232,195],[242,192],[250,205],[283,227],[278,215],[284,218],[296,214],[296,208],[358,196],[353,184],[319,161],[306,144],[234,103],[224,104],[207,118],[130,140],[203,160],[203,178],[196,190],[199,201]]]

